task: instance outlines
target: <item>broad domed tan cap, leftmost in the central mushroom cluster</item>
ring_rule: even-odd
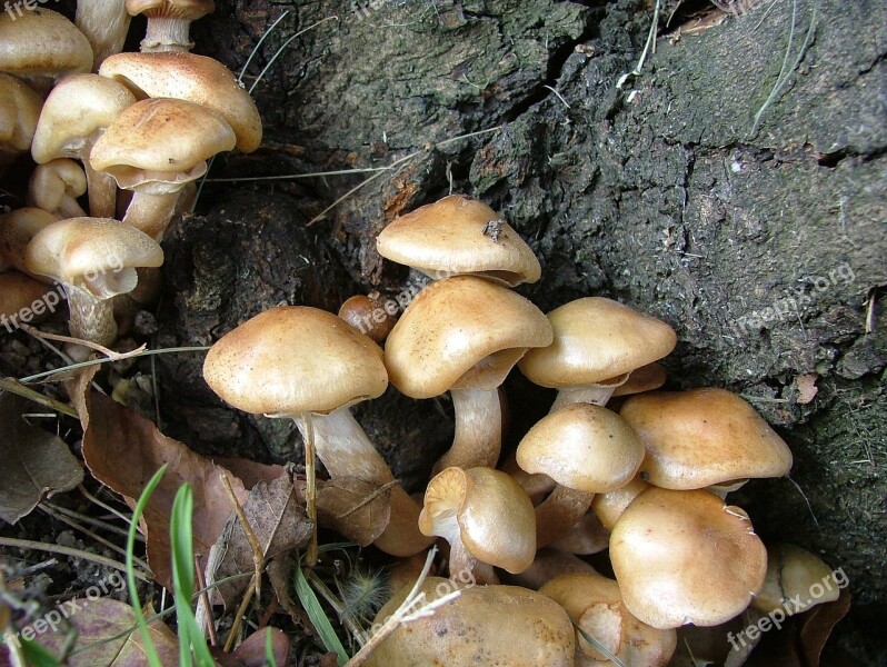
[[[266,310],[222,336],[207,354],[203,378],[239,410],[278,416],[332,412],[388,386],[379,346],[307,306]]]

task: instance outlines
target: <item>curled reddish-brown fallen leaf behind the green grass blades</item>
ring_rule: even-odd
[[[83,458],[93,477],[132,506],[151,476],[169,464],[142,518],[148,564],[156,580],[171,588],[169,515],[176,491],[186,482],[193,489],[195,555],[206,558],[231,516],[231,502],[220,476],[225,469],[167,438],[153,422],[130,408],[91,391],[91,372],[80,375],[69,385],[69,394],[83,426]],[[232,475],[229,479],[238,501],[246,502],[248,494],[242,482]]]

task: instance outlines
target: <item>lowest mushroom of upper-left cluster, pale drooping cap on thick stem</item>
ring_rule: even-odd
[[[24,256],[34,273],[58,280],[68,296],[76,338],[111,345],[111,297],[131,291],[137,267],[159,267],[163,251],[150,237],[109,218],[70,218],[38,231]]]

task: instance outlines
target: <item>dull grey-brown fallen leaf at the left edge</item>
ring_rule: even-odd
[[[83,467],[58,436],[32,426],[24,417],[33,404],[12,394],[0,395],[0,519],[14,524],[44,497],[83,481]]]

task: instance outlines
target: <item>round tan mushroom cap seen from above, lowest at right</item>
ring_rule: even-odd
[[[732,618],[767,573],[748,515],[704,490],[640,494],[616,521],[610,560],[626,607],[660,629]]]

